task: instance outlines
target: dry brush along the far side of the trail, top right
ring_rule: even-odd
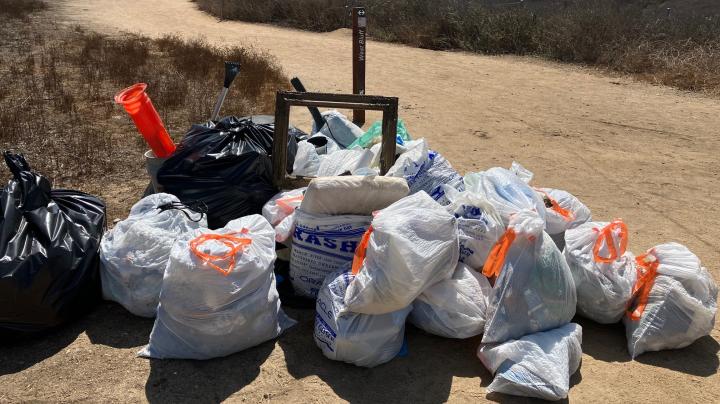
[[[720,94],[717,0],[195,1],[226,19],[315,31],[347,27],[348,7],[363,4],[375,39],[428,49],[535,55]]]

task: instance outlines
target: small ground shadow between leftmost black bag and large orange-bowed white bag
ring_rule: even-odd
[[[93,344],[113,348],[140,348],[147,344],[154,320],[138,317],[114,302],[103,301],[87,316],[87,333]]]

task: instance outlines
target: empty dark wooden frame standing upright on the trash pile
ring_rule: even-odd
[[[275,99],[275,137],[273,139],[273,182],[279,189],[307,186],[312,178],[296,177],[287,173],[288,128],[290,107],[342,108],[365,111],[382,111],[382,148],[380,174],[385,175],[395,164],[398,99],[373,95],[296,93],[278,91]]]

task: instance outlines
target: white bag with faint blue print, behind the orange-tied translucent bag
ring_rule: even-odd
[[[515,173],[494,167],[479,173],[465,175],[465,189],[485,197],[497,210],[505,226],[521,210],[537,214],[545,227],[545,204],[542,198]]]

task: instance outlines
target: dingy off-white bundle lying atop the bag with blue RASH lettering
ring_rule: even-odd
[[[408,195],[402,178],[322,177],[310,181],[300,208],[319,215],[371,215]]]

